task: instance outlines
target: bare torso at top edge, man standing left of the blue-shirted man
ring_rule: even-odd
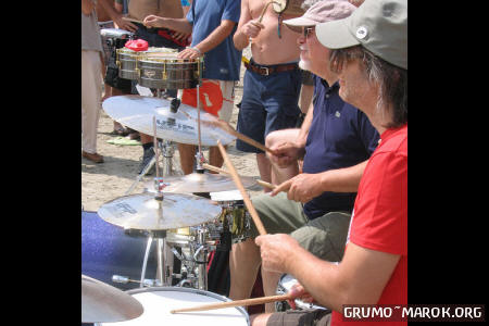
[[[129,17],[142,21],[147,15],[170,18],[184,17],[180,0],[130,0]]]

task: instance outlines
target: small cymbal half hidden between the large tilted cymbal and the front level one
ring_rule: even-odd
[[[247,188],[256,185],[252,177],[241,177],[241,181]],[[231,177],[206,172],[163,177],[163,183],[170,184],[163,188],[163,192],[217,192],[236,189],[236,184]],[[145,183],[145,187],[149,192],[156,192],[154,181]]]

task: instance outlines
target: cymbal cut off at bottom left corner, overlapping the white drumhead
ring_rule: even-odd
[[[82,275],[82,323],[113,323],[139,317],[145,309],[130,294]]]

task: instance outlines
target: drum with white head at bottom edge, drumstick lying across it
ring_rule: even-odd
[[[246,326],[250,325],[248,313],[242,306],[216,309],[212,311],[172,314],[170,311],[201,304],[230,301],[228,298],[191,288],[154,287],[127,291],[138,300],[145,312],[137,318],[121,323],[101,323],[96,325],[126,326]]]

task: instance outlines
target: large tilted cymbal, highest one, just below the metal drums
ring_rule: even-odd
[[[102,108],[116,122],[137,131],[154,135],[153,116],[156,118],[156,137],[181,143],[198,145],[197,109],[180,104],[178,111],[170,110],[170,100],[142,96],[115,96],[104,100]],[[217,117],[200,111],[202,146],[216,146],[217,140],[227,145],[236,139],[212,123]]]

